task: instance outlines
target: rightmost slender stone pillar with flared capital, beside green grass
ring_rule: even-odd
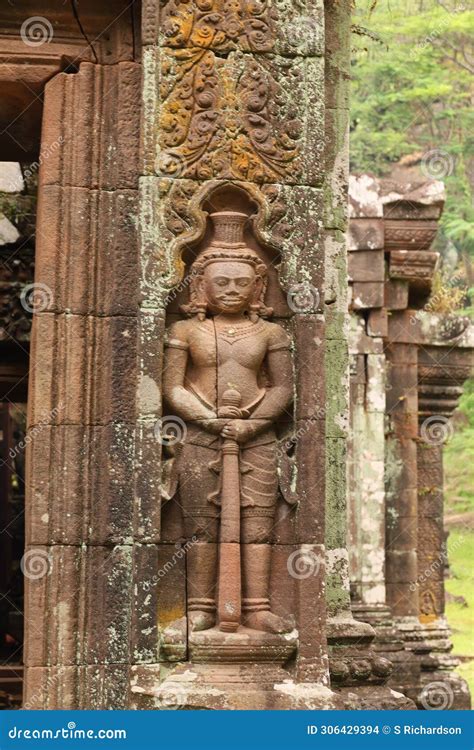
[[[450,629],[444,615],[447,550],[443,446],[452,434],[450,417],[462,394],[462,384],[473,372],[473,329],[467,319],[431,313],[421,313],[414,325],[420,340],[416,585],[427,647],[420,655],[419,700],[424,707],[469,709],[468,687],[451,671],[458,660],[450,655]]]

